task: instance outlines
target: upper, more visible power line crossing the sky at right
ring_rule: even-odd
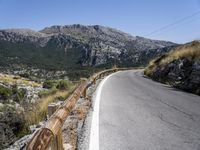
[[[154,31],[150,32],[149,34],[147,34],[146,36],[151,36],[151,35],[154,35],[155,33],[158,33],[158,32],[160,32],[162,30],[166,30],[167,28],[169,28],[171,26],[174,26],[176,24],[179,24],[180,22],[183,22],[185,20],[191,19],[192,17],[194,17],[194,16],[196,16],[198,14],[200,14],[200,10],[196,11],[195,13],[193,13],[193,14],[191,14],[189,16],[183,17],[183,18],[181,18],[181,19],[179,19],[179,20],[177,20],[177,21],[175,21],[173,23],[170,23],[170,24],[168,24],[166,26],[163,26],[163,27],[161,27],[161,28],[159,28],[157,30],[154,30]]]

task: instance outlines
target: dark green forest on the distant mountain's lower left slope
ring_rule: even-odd
[[[80,67],[82,51],[71,48],[67,51],[55,47],[55,41],[50,41],[45,47],[39,47],[31,43],[12,43],[0,41],[2,67],[26,64],[29,67],[42,68],[47,70],[63,70]],[[27,51],[28,50],[28,51]]]

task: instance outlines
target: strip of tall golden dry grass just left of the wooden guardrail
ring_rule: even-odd
[[[60,97],[66,99],[75,88],[76,85],[73,85],[69,90],[57,91],[55,94],[41,98],[37,104],[32,104],[31,110],[25,113],[26,123],[32,125],[43,120],[47,115],[48,104],[57,101]]]

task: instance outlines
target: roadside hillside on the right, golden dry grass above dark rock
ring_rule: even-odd
[[[145,74],[154,80],[200,95],[200,41],[179,46],[151,61]]]

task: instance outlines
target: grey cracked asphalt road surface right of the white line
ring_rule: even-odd
[[[123,71],[103,84],[100,150],[200,150],[200,96]]]

